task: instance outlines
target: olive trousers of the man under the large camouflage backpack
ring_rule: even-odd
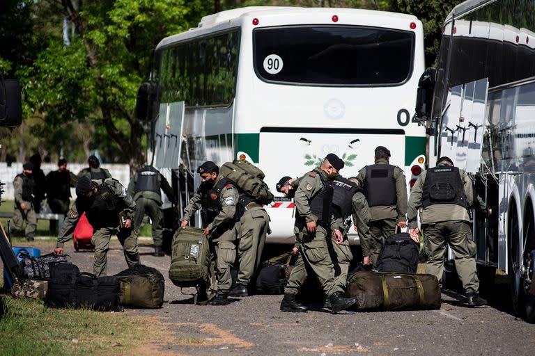
[[[260,266],[265,236],[270,229],[270,216],[262,207],[251,208],[240,220],[240,240],[238,243],[238,284],[247,286]]]

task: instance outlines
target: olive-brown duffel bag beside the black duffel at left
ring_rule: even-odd
[[[121,283],[119,304],[124,307],[157,309],[164,304],[164,275],[156,268],[140,264],[115,277]]]

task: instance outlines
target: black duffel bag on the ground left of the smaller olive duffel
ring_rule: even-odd
[[[121,285],[117,277],[80,273],[74,264],[52,264],[45,305],[118,311]]]

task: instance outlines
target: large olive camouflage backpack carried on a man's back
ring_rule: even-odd
[[[270,204],[273,194],[263,181],[264,172],[256,165],[247,161],[232,161],[222,165],[219,172],[231,179],[236,186],[246,195],[252,197],[260,204]]]

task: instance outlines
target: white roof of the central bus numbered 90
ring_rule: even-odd
[[[235,8],[232,10],[225,10],[220,13],[205,16],[199,22],[198,27],[189,29],[176,35],[171,35],[164,38],[158,43],[156,49],[166,47],[174,42],[180,42],[189,38],[195,38],[199,35],[212,33],[215,31],[224,31],[231,27],[239,26],[244,17],[261,17],[263,15],[276,15],[277,13],[284,13],[284,15],[315,15],[319,13],[332,13],[332,15],[361,15],[361,16],[380,16],[391,17],[397,19],[408,19],[417,21],[417,17],[413,15],[390,13],[388,11],[377,10],[362,10],[353,8],[298,8],[292,6],[248,6],[245,8]]]

